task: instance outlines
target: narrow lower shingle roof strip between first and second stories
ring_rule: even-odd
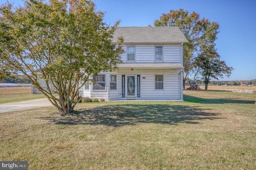
[[[137,69],[180,69],[184,68],[180,63],[120,63],[117,64],[120,68],[137,68]]]

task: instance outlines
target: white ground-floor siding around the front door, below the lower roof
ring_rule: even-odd
[[[84,90],[84,97],[104,98],[108,100],[126,100],[122,98],[122,75],[140,75],[140,98],[137,100],[183,100],[180,90],[180,70],[141,70],[141,69],[122,69],[106,74],[106,90],[94,91],[92,85],[90,90]],[[117,90],[110,90],[110,74],[117,75]],[[155,90],[155,74],[164,75],[164,90]],[[142,77],[145,77],[143,79]],[[127,83],[127,82],[126,82]]]

